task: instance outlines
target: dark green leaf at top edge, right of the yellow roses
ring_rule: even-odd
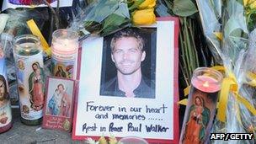
[[[195,4],[191,0],[174,0],[173,13],[181,17],[188,17],[198,12]]]

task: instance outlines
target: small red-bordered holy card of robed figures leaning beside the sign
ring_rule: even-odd
[[[71,131],[75,81],[47,77],[43,128]]]

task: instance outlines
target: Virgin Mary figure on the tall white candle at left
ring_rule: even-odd
[[[31,108],[39,111],[44,105],[45,74],[38,62],[32,64],[33,72],[29,75],[29,93]]]

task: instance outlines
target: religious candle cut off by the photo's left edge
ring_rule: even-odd
[[[12,127],[12,109],[8,91],[8,79],[3,47],[0,43],[0,133]]]

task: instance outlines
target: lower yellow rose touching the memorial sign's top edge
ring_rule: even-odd
[[[132,13],[132,23],[135,25],[147,25],[156,22],[154,8],[136,10]]]

